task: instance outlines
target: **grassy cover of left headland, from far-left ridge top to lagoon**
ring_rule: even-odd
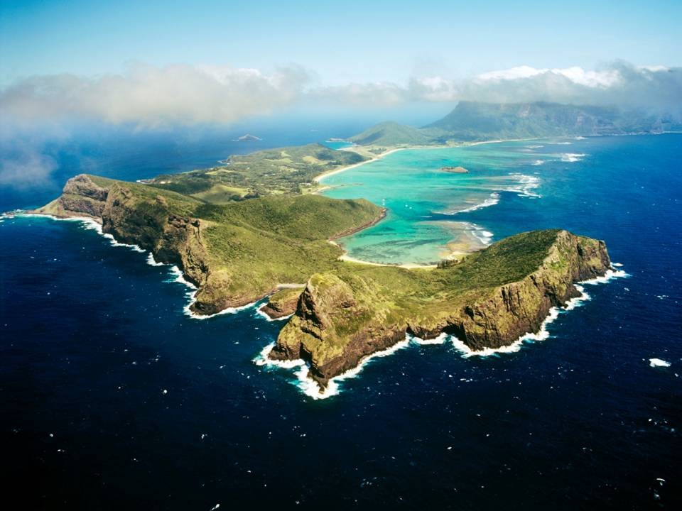
[[[381,215],[364,200],[318,195],[273,195],[229,204],[206,204],[151,185],[90,176],[98,186],[126,197],[118,222],[129,241],[144,236],[158,244],[172,215],[201,219],[210,273],[217,277],[200,292],[202,300],[256,300],[280,283],[304,283],[310,275],[340,263],[341,250],[328,238],[357,229]],[[156,240],[156,241],[155,241]]]

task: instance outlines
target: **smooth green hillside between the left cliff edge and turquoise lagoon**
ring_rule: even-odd
[[[341,250],[327,239],[374,220],[381,209],[365,200],[317,195],[264,197],[224,207],[202,206],[212,268],[229,277],[234,295],[269,292],[278,283],[304,283],[335,268]]]

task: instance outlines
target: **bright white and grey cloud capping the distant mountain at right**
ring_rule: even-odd
[[[518,103],[554,101],[571,104],[618,105],[682,114],[682,68],[636,67],[613,62],[599,70],[581,67],[536,69],[529,66],[486,72],[467,79],[440,76],[413,78],[397,84],[353,84],[318,89],[323,97],[349,102],[400,104],[408,101],[485,101]],[[366,101],[369,99],[369,101]]]

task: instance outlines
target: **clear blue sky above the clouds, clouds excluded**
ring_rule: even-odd
[[[682,62],[682,1],[13,1],[0,84],[117,73],[131,61],[274,70],[316,82],[467,77],[519,65]]]

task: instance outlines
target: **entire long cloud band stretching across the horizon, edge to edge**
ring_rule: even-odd
[[[431,76],[414,77],[407,84],[324,87],[297,66],[268,74],[233,67],[133,65],[121,75],[22,79],[0,92],[0,115],[12,126],[76,119],[154,128],[232,123],[292,104],[371,108],[460,100],[616,104],[680,115],[682,68],[637,67],[627,62],[597,70],[520,66],[466,79]]]

